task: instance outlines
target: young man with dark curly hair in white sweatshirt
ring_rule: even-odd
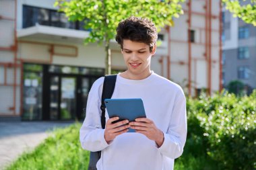
[[[149,19],[129,17],[119,23],[116,40],[127,71],[117,75],[112,98],[141,98],[147,118],[113,124],[119,118],[108,118],[106,112],[106,128],[102,129],[101,77],[89,93],[86,119],[80,130],[82,147],[102,151],[98,170],[173,169],[187,135],[186,101],[179,85],[150,69],[156,52],[156,28]],[[128,128],[136,132],[127,133]]]

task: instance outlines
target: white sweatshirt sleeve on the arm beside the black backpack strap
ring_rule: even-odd
[[[93,152],[102,151],[108,146],[104,139],[104,129],[102,129],[100,122],[103,81],[104,77],[101,77],[92,85],[88,95],[86,118],[79,132],[82,148]]]

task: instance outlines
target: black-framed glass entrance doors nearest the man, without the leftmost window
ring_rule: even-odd
[[[88,93],[95,79],[71,75],[51,75],[50,120],[84,119]]]

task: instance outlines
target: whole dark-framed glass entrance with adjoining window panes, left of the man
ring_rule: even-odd
[[[88,93],[102,75],[103,69],[25,64],[22,119],[84,120]]]

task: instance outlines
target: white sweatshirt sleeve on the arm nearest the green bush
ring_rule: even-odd
[[[187,137],[186,98],[181,91],[174,101],[168,130],[164,133],[164,142],[159,151],[162,155],[177,159],[183,153]]]

